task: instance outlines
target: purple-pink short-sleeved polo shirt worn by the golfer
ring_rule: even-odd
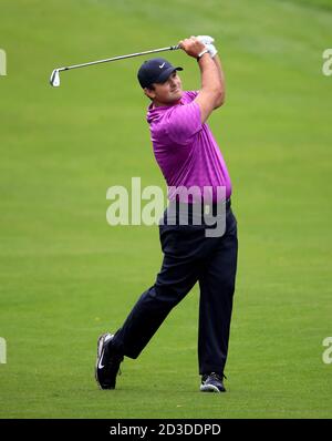
[[[147,122],[155,158],[168,186],[168,198],[178,194],[180,202],[195,202],[197,195],[211,195],[205,202],[221,199],[217,187],[231,195],[231,182],[221,152],[207,125],[201,124],[200,109],[194,102],[198,92],[184,92],[179,103],[153,107],[147,111]],[[186,197],[189,189],[193,196]],[[205,193],[206,192],[206,193]],[[198,199],[197,199],[198,201]]]

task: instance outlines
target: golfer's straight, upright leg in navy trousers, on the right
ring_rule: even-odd
[[[207,238],[207,240],[209,240]],[[199,278],[199,373],[216,372],[222,376],[229,340],[232,297],[237,270],[237,222],[227,212],[225,235],[208,257]]]

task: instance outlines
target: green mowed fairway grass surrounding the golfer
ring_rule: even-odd
[[[0,47],[1,418],[331,418],[330,1],[4,0]],[[106,223],[106,191],[164,181],[136,81],[142,58],[56,66],[216,38],[227,103],[210,119],[232,178],[239,267],[225,394],[198,391],[198,288],[114,391],[96,339],[154,284],[156,226]],[[185,89],[199,88],[197,63]],[[144,203],[143,203],[144,205]]]

